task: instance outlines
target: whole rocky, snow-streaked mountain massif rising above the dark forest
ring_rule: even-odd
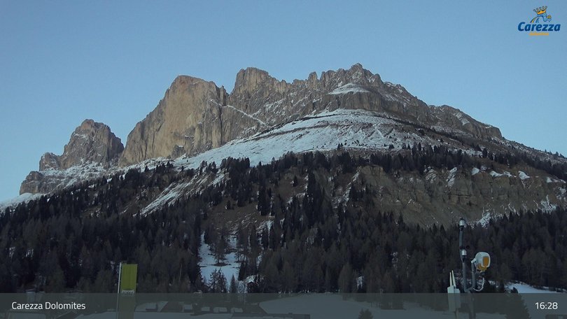
[[[357,152],[395,152],[414,143],[469,155],[486,148],[493,154],[524,152],[539,161],[567,162],[507,141],[497,127],[457,108],[430,106],[360,64],[323,72],[320,78],[311,73],[293,83],[247,68],[237,74],[230,94],[213,82],[179,76],[132,130],[125,148],[109,127],[85,120],[63,155],[43,155],[39,171],[29,173],[20,194],[54,192],[115,173],[120,170],[116,161],[128,166],[186,155],[190,166],[227,156],[249,157],[254,164],[288,151],[330,151],[342,145]]]

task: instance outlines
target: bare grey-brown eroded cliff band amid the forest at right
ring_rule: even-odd
[[[566,183],[543,171],[525,167],[492,169],[427,169],[422,175],[400,171],[385,173],[366,166],[351,185],[368,189],[377,211],[402,212],[404,219],[421,225],[454,225],[458,218],[488,222],[519,211],[553,211],[565,206]],[[526,178],[525,176],[530,176]]]

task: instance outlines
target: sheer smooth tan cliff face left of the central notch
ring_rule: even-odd
[[[200,153],[225,143],[221,113],[226,91],[212,82],[179,76],[165,97],[128,135],[120,164]]]

